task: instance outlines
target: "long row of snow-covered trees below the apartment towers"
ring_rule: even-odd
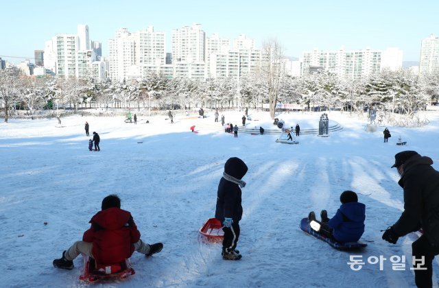
[[[273,63],[273,62],[272,62]],[[344,80],[327,71],[304,77],[283,73],[278,64],[250,75],[209,79],[168,79],[148,73],[137,80],[112,82],[63,77],[29,77],[18,69],[0,71],[0,104],[5,122],[16,110],[34,115],[38,110],[78,108],[151,108],[153,110],[206,108],[261,108],[270,104],[300,104],[306,110],[346,110],[363,113],[374,108],[380,117],[394,113],[413,117],[438,102],[439,73],[418,77],[410,71],[381,71],[366,79]]]

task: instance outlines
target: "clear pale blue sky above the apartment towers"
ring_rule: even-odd
[[[346,50],[399,47],[403,60],[418,61],[421,40],[439,35],[438,11],[437,0],[5,1],[0,8],[0,57],[11,62],[22,59],[3,56],[33,58],[46,40],[75,34],[82,23],[88,24],[90,38],[102,43],[104,56],[108,39],[121,27],[136,32],[153,25],[170,38],[171,29],[200,23],[206,36],[219,33],[233,39],[246,34],[257,47],[276,38],[287,56],[342,45]]]

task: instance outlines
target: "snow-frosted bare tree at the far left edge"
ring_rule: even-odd
[[[0,99],[5,106],[5,122],[8,122],[9,112],[19,99],[21,87],[20,72],[17,69],[0,70]]]

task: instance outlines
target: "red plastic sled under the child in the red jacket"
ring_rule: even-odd
[[[80,275],[80,281],[84,283],[96,283],[99,280],[123,280],[136,274],[130,264],[130,259],[121,263],[102,265],[95,259],[82,254],[84,258],[84,270]]]

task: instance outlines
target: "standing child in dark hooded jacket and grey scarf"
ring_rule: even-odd
[[[239,220],[242,217],[241,188],[246,182],[241,180],[246,175],[248,167],[243,160],[229,158],[224,165],[224,173],[219,180],[215,218],[224,225],[224,240],[222,242],[222,258],[239,260],[241,254],[235,250],[239,239]]]

